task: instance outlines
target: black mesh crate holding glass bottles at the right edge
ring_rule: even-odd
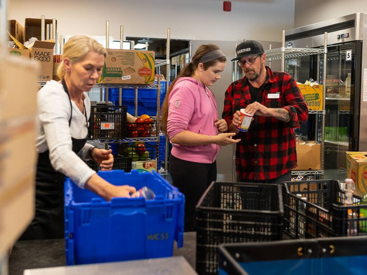
[[[337,180],[284,182],[284,232],[296,239],[367,234],[367,205],[360,199],[353,195],[354,204],[343,205]]]

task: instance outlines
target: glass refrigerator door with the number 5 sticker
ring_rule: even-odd
[[[346,151],[357,146],[361,42],[328,47],[326,65],[326,100],[324,127],[324,177],[345,179]],[[322,62],[321,62],[321,66]],[[320,82],[323,79],[320,70]],[[358,94],[357,94],[358,92]],[[357,100],[357,104],[355,102]],[[355,150],[355,149],[354,149]]]

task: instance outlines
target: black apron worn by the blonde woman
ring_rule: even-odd
[[[62,85],[69,97],[71,114],[69,127],[73,115],[71,99],[66,87],[65,80]],[[84,115],[87,120],[86,106],[84,105]],[[75,139],[72,137],[74,153],[78,153],[86,144],[87,137]],[[57,172],[51,165],[50,151],[38,154],[36,171],[36,213],[32,223],[21,236],[21,239],[61,239],[64,238],[64,178],[65,176]]]

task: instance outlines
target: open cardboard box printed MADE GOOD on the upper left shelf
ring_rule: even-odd
[[[55,42],[35,41],[30,48],[30,59],[39,63],[39,81],[48,81],[52,79],[54,69],[54,45]]]

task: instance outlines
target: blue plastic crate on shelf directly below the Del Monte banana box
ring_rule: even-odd
[[[109,100],[112,101],[114,104],[119,103],[119,89],[117,88],[108,89],[108,96]],[[165,96],[166,96],[166,81],[161,81],[160,107],[162,107]],[[127,112],[129,114],[135,113],[134,101],[135,101],[135,90],[132,88],[122,89],[122,105],[127,106]],[[155,116],[157,114],[156,89],[138,89],[138,115],[142,114],[152,116]]]

